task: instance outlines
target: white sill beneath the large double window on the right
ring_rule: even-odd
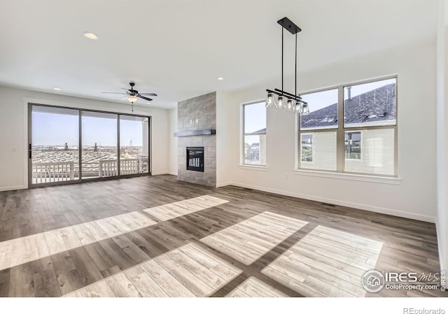
[[[401,179],[396,177],[368,176],[364,174],[355,174],[355,173],[336,173],[336,172],[304,170],[304,169],[296,169],[294,172],[295,172],[294,174],[297,176],[311,176],[311,177],[331,178],[340,180],[364,181],[370,183],[382,183],[391,185],[401,184]]]

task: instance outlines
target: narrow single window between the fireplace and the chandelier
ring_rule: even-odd
[[[265,102],[243,106],[243,164],[266,165]]]

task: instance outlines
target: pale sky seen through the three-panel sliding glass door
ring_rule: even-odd
[[[116,115],[114,115],[116,117]],[[78,116],[33,112],[33,145],[78,146]],[[83,145],[117,145],[117,121],[99,117],[83,117]],[[120,120],[120,145],[143,145],[140,121]]]

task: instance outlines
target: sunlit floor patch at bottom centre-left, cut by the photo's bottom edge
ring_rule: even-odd
[[[207,297],[241,270],[188,243],[65,297]]]

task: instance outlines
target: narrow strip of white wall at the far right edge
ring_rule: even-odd
[[[442,269],[448,270],[448,1],[440,0],[437,30],[437,238]]]

